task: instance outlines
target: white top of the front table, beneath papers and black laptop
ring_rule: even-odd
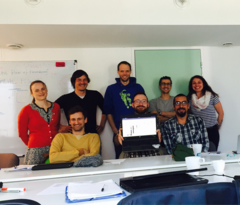
[[[213,167],[210,165],[203,165],[202,167],[207,167],[207,171],[200,172],[200,175],[210,175],[215,174]],[[26,188],[26,192],[22,193],[0,193],[1,200],[8,200],[8,199],[32,199],[39,202],[42,205],[47,204],[58,204],[63,205],[67,204],[65,202],[65,195],[64,194],[54,194],[54,195],[37,195],[44,189],[48,188],[54,183],[68,183],[68,182],[82,182],[82,181],[93,181],[99,182],[103,180],[112,179],[117,184],[119,184],[120,178],[123,177],[130,177],[130,176],[140,176],[140,175],[148,175],[148,174],[157,174],[161,172],[169,172],[169,171],[177,171],[177,170],[184,170],[183,167],[178,168],[170,168],[170,169],[160,169],[160,170],[149,170],[149,171],[139,171],[139,172],[126,172],[126,173],[113,173],[113,174],[104,174],[104,175],[93,175],[93,176],[79,176],[79,177],[70,177],[70,178],[56,178],[56,179],[43,179],[43,180],[36,180],[36,181],[24,181],[24,182],[7,182],[4,183],[4,187],[7,188]],[[238,175],[240,173],[240,165],[238,163],[229,163],[226,165],[224,174],[229,176]],[[210,177],[203,177],[207,178],[210,182],[232,182],[233,179],[222,177],[222,176],[210,176]],[[128,193],[129,194],[129,193]],[[102,201],[91,201],[79,204],[117,204],[121,199],[108,199]],[[77,203],[78,204],[78,203]]]

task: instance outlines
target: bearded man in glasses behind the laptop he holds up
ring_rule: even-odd
[[[134,108],[135,114],[146,114],[147,113],[147,109],[149,107],[149,103],[148,103],[148,99],[147,96],[144,92],[137,92],[134,96],[133,96],[133,103],[132,103],[132,107]],[[158,118],[157,118],[158,119]],[[116,146],[121,146],[122,145],[122,141],[124,140],[122,137],[122,126],[120,125],[120,129],[119,129],[119,133],[114,137],[114,143]],[[157,130],[156,130],[157,134],[158,134],[158,139],[159,142],[161,142],[161,133],[160,133],[160,123],[157,121]],[[164,147],[160,147],[159,148],[159,153],[160,154],[167,154],[166,150]],[[119,158],[126,158],[128,156],[127,153],[121,153]]]

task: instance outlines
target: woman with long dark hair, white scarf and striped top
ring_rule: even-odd
[[[209,141],[214,143],[216,149],[218,149],[218,130],[224,116],[218,94],[212,90],[206,80],[200,75],[195,75],[190,79],[188,90],[188,98],[192,113],[203,119],[207,128]],[[216,111],[218,117],[216,117]]]

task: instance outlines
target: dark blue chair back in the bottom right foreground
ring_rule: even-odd
[[[118,205],[240,205],[239,180],[136,192]]]

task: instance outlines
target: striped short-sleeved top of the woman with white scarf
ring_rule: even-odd
[[[214,105],[220,102],[217,96],[214,97],[213,95],[211,95],[209,105],[204,110],[200,110],[200,111],[198,111],[193,106],[192,100],[190,100],[189,102],[190,102],[190,109],[192,113],[196,116],[201,117],[207,128],[218,124],[216,109],[214,107]]]

